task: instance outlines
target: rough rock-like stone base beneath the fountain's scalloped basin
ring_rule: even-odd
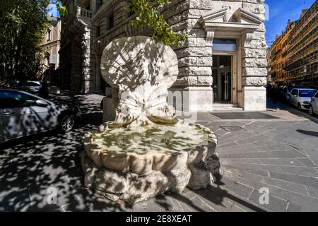
[[[126,203],[146,201],[165,191],[179,194],[186,186],[194,190],[206,189],[220,174],[216,153],[205,161],[195,162],[182,169],[169,172],[151,170],[143,175],[98,167],[85,151],[81,153],[81,165],[85,186],[93,189],[96,196]]]

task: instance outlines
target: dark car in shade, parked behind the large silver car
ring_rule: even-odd
[[[15,90],[21,90],[34,95],[47,98],[49,96],[49,89],[45,83],[41,81],[14,81],[12,88]]]

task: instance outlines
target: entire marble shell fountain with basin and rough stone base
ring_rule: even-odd
[[[118,90],[116,118],[83,138],[85,185],[97,196],[136,203],[165,191],[206,189],[220,173],[217,138],[177,119],[167,104],[175,52],[149,37],[123,37],[102,54],[102,78]]]

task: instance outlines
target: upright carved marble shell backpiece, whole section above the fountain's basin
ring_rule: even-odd
[[[104,49],[102,78],[119,88],[119,106],[110,128],[175,124],[175,109],[167,105],[167,88],[177,80],[177,55],[150,37],[122,37]]]

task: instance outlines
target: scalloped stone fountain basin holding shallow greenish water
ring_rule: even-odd
[[[200,124],[109,129],[103,124],[86,133],[84,147],[99,167],[118,172],[170,172],[204,161],[216,151],[213,132]]]

